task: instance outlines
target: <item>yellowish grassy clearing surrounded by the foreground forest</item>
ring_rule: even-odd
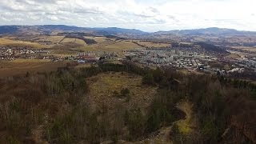
[[[90,100],[95,108],[102,106],[108,109],[114,109],[115,104],[121,104],[128,108],[134,105],[140,108],[146,108],[150,105],[156,94],[156,87],[142,86],[142,77],[128,73],[103,73],[87,79],[90,85]],[[122,88],[130,90],[130,101],[120,99],[114,96],[114,91],[120,91]]]

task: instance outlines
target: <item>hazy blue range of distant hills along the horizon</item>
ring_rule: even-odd
[[[42,26],[0,26],[0,34],[52,34],[79,32],[94,35],[114,35],[122,38],[165,38],[164,36],[226,36],[226,35],[255,35],[256,32],[239,31],[234,29],[222,29],[211,27],[195,30],[170,30],[147,33],[136,29],[123,29],[118,27],[89,28],[65,25],[42,25]],[[170,39],[170,38],[169,38]]]

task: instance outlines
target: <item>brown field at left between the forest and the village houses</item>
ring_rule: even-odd
[[[26,72],[49,72],[58,67],[66,66],[66,62],[50,62],[39,59],[16,59],[14,61],[0,61],[0,78],[26,74]]]

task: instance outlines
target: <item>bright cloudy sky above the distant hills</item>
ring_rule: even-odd
[[[256,0],[0,0],[0,25],[256,31]]]

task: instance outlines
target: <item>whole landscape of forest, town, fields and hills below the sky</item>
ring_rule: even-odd
[[[241,35],[18,29],[0,38],[0,143],[255,142]]]

